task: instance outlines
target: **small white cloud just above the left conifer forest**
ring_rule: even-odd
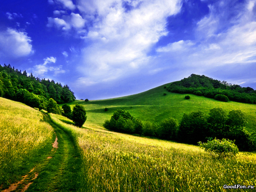
[[[65,70],[62,69],[62,65],[59,66],[50,66],[48,64],[55,64],[56,57],[47,57],[44,59],[44,63],[41,65],[35,65],[33,68],[33,73],[37,76],[42,76],[47,72],[53,72],[54,74],[65,73]]]

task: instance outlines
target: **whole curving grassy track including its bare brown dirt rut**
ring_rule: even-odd
[[[55,130],[56,139],[52,151],[43,162],[40,162],[22,180],[12,184],[9,191],[77,191],[81,170],[79,148],[69,133],[52,123],[48,115],[44,120]],[[59,141],[59,142],[57,142]]]

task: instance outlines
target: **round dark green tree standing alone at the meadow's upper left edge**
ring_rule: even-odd
[[[72,120],[75,126],[82,127],[87,119],[84,106],[76,104],[72,111]]]

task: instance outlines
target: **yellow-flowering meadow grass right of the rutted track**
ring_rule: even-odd
[[[225,184],[256,185],[253,153],[216,160],[196,146],[77,128],[52,116],[77,137],[82,191],[225,191]]]

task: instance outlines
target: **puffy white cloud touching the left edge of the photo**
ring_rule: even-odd
[[[31,38],[26,32],[7,28],[0,31],[0,55],[22,57],[34,53]]]

